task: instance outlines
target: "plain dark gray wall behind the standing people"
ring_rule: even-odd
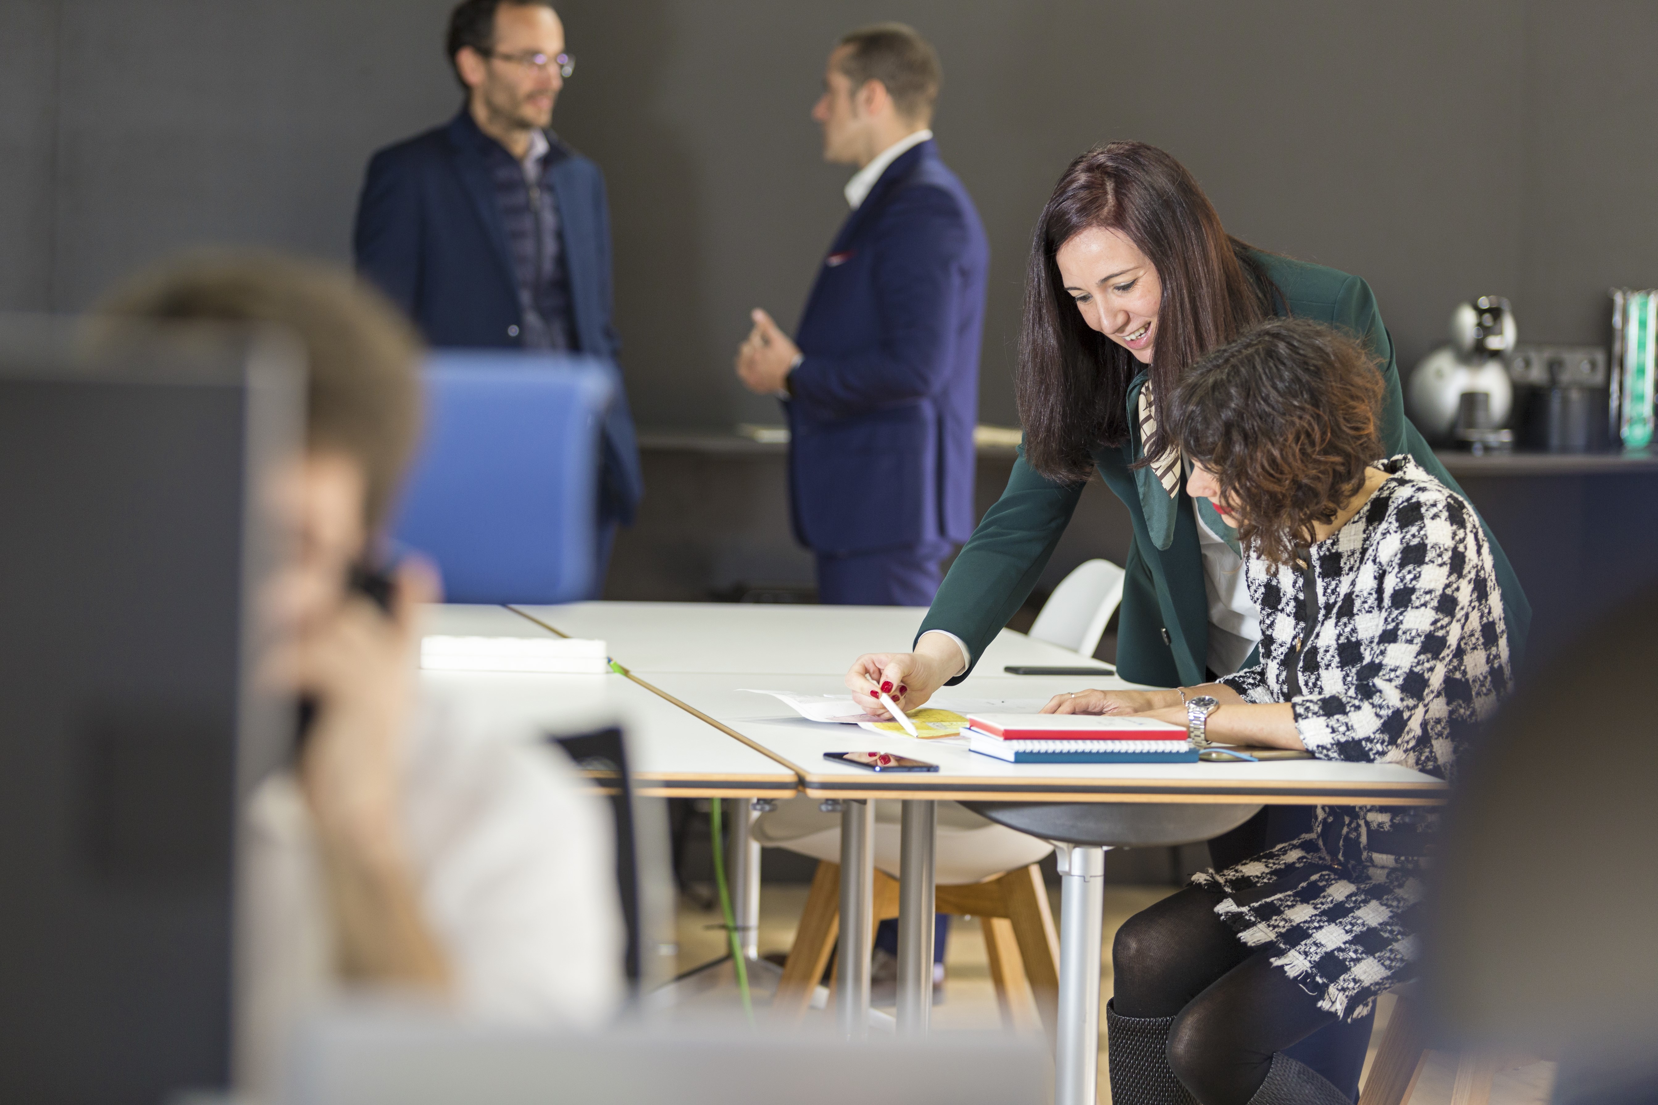
[[[458,103],[448,0],[5,0],[0,308],[75,310],[153,257],[262,242],[345,258],[380,144]],[[751,305],[793,323],[846,171],[806,118],[834,36],[904,18],[945,60],[940,147],[995,265],[983,419],[1013,422],[1023,249],[1064,162],[1185,161],[1227,225],[1365,275],[1406,364],[1451,305],[1600,341],[1658,283],[1658,5],[1466,0],[567,0],[557,126],[608,172],[638,421],[778,421],[731,379]]]

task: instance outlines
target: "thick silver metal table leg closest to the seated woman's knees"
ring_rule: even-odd
[[[1059,1025],[1054,1105],[1099,1100],[1099,941],[1106,911],[1106,850],[1059,848]]]

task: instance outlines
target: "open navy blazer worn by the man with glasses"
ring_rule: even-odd
[[[615,364],[605,179],[592,161],[547,139],[574,338],[582,353]],[[439,348],[521,345],[517,275],[482,156],[482,142],[492,141],[463,108],[446,126],[376,152],[356,205],[358,270]],[[643,479],[620,374],[604,452],[600,519],[632,522]]]

